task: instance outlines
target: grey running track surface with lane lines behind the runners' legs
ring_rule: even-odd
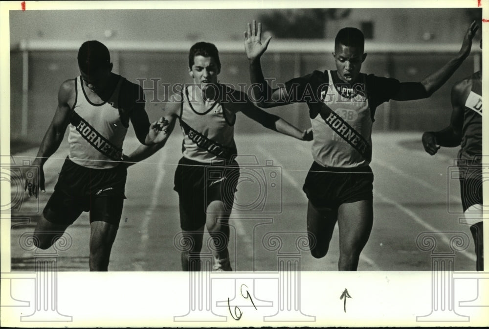
[[[431,270],[431,252],[417,245],[417,237],[422,232],[436,232],[429,235],[436,236],[437,253],[452,252],[450,238],[466,235],[470,244],[466,250],[455,252],[455,269],[474,270],[474,246],[469,227],[459,223],[463,217],[459,183],[457,175],[452,174],[456,172],[457,148],[441,149],[431,157],[422,149],[421,133],[374,133],[372,139],[374,227],[358,270]],[[242,165],[236,195],[238,210],[233,211],[230,220],[233,269],[276,271],[279,254],[300,253],[302,270],[336,271],[337,226],[324,258],[313,258],[303,243],[307,199],[302,185],[312,163],[311,142],[277,133],[238,135],[235,140],[243,156],[238,158]],[[125,153],[137,145],[138,141],[128,136]],[[33,160],[36,152],[37,149],[29,149],[14,154],[13,160],[22,164],[23,159]],[[33,231],[66,156],[65,140],[45,164],[46,193],[41,193],[37,200],[24,198],[19,212],[12,214],[12,271],[34,269],[34,252],[21,248],[20,236]],[[112,248],[110,271],[180,270],[180,255],[175,245],[180,232],[178,195],[173,190],[180,157],[181,135],[176,128],[163,149],[129,168],[127,200]],[[12,200],[22,196],[21,190],[12,185]],[[83,213],[66,234],[71,237],[72,245],[67,251],[59,252],[59,270],[88,271],[88,213]],[[208,238],[206,233],[204,254],[209,252]]]

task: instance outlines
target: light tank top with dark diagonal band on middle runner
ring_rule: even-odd
[[[185,88],[180,108],[183,156],[202,163],[233,158],[237,153],[234,142],[236,115],[220,102],[198,104],[192,88],[196,87]]]

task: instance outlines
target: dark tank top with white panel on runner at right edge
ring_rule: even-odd
[[[460,159],[472,160],[482,155],[482,72],[471,76],[472,88],[465,100],[464,125],[462,127],[462,148]]]

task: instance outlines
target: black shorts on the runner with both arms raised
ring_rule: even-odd
[[[338,208],[343,203],[373,199],[374,174],[370,166],[326,168],[313,162],[303,186],[317,208]]]

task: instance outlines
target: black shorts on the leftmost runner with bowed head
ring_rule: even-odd
[[[71,225],[82,211],[89,211],[90,223],[104,221],[118,225],[126,177],[124,165],[92,169],[66,159],[54,193],[44,207],[44,218],[55,224]]]

